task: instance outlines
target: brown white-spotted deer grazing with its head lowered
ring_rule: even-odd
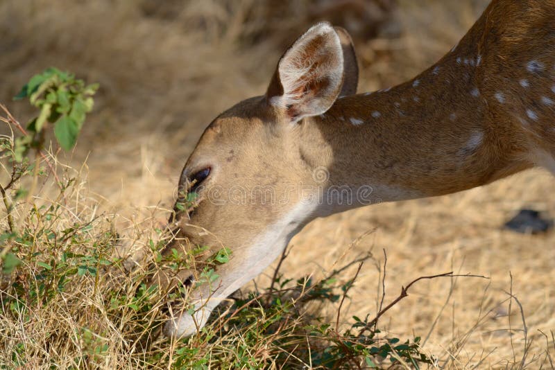
[[[451,51],[401,85],[356,94],[348,33],[312,26],[282,55],[263,96],[207,127],[180,177],[195,193],[173,222],[187,243],[227,247],[212,284],[189,290],[202,328],[314,218],[463,191],[542,166],[555,173],[555,0],[494,0]],[[191,285],[194,268],[157,282]]]

